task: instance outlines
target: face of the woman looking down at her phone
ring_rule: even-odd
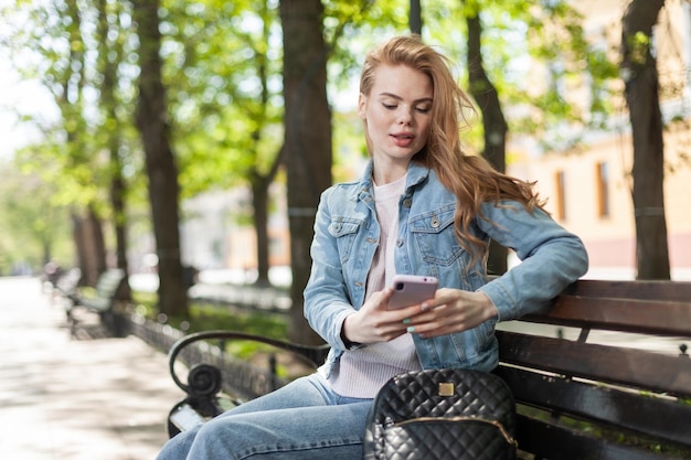
[[[375,168],[405,167],[427,143],[432,79],[405,65],[380,65],[369,95],[360,95]]]

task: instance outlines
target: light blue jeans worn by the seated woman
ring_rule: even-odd
[[[360,460],[371,405],[312,374],[176,436],[157,460]]]

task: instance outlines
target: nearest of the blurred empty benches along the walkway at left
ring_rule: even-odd
[[[123,311],[118,308],[118,295],[127,280],[125,270],[110,268],[98,276],[96,287],[93,289],[81,289],[71,296],[71,302],[66,308],[67,322],[72,333],[76,331],[78,324],[75,317],[75,309],[97,313],[100,322],[114,336],[127,335],[127,321],[123,318]]]

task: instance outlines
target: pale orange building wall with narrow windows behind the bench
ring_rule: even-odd
[[[688,131],[667,131],[665,136],[665,211],[670,264],[676,269],[691,269],[691,162],[683,148],[688,137]],[[509,172],[536,181],[536,190],[548,200],[546,210],[583,238],[592,267],[631,270],[636,265],[631,163],[630,136],[613,135],[580,153],[514,162]],[[598,186],[600,164],[607,168],[604,189]],[[600,212],[603,200],[605,213]]]

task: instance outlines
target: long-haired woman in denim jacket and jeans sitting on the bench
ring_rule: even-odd
[[[417,36],[371,52],[358,111],[371,161],[321,196],[305,315],[331,345],[310,376],[166,445],[159,459],[359,459],[368,410],[394,375],[491,371],[495,324],[548,306],[587,268],[581,240],[531,184],[465,156],[470,105],[446,60]],[[488,281],[489,238],[522,260]],[[389,310],[395,274],[437,277],[433,299]]]

